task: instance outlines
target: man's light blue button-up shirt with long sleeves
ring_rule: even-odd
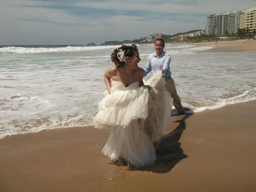
[[[148,56],[147,66],[144,69],[145,70],[144,76],[146,76],[151,70],[153,70],[153,75],[154,75],[157,70],[162,69],[163,71],[162,76],[164,78],[170,77],[172,74],[170,71],[170,62],[171,62],[170,54],[167,54],[164,51],[159,57],[156,55],[156,52],[150,54]]]

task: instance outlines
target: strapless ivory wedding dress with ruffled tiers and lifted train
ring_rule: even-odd
[[[102,153],[112,160],[121,156],[128,166],[154,164],[153,142],[160,140],[170,123],[172,100],[165,90],[162,72],[144,84],[154,89],[139,87],[139,82],[125,87],[112,81],[111,92],[99,102],[99,112],[94,118],[95,128],[110,128]]]

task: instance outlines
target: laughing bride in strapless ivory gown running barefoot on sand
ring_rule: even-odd
[[[118,161],[117,166],[152,165],[156,161],[153,142],[159,141],[168,128],[172,107],[162,72],[144,86],[144,70],[138,67],[140,56],[135,44],[115,49],[111,60],[116,66],[104,74],[108,93],[99,102],[94,118],[95,128],[110,128],[102,153]]]

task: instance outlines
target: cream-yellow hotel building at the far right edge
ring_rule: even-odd
[[[246,9],[240,15],[240,28],[249,28],[250,32],[256,29],[256,7]]]

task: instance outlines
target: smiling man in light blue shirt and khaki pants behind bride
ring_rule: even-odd
[[[179,114],[185,113],[185,108],[182,106],[180,97],[177,94],[176,87],[174,80],[171,77],[171,71],[170,71],[170,62],[171,62],[171,56],[170,54],[167,54],[164,52],[164,40],[163,39],[157,39],[155,41],[155,50],[156,52],[150,54],[148,56],[148,63],[145,70],[146,76],[151,70],[153,71],[153,74],[156,73],[157,70],[162,69],[162,76],[166,80],[166,90],[171,94],[173,99],[173,105],[178,111]]]

